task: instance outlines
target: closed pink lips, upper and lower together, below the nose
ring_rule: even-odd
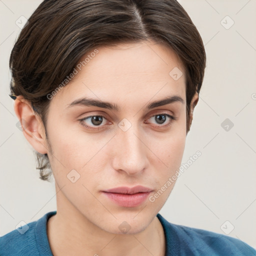
[[[111,188],[102,191],[102,193],[119,206],[136,207],[146,200],[151,191],[153,190],[148,187],[138,185]]]

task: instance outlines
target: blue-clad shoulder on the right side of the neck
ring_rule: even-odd
[[[199,228],[172,224],[160,214],[157,216],[163,224],[167,246],[175,248],[178,255],[256,255],[254,248],[239,239]]]

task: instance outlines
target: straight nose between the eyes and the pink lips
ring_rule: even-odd
[[[126,131],[117,129],[112,141],[112,167],[116,171],[136,175],[147,167],[146,137],[141,132],[135,125]]]

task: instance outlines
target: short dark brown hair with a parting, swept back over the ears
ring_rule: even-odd
[[[171,47],[185,68],[186,130],[193,95],[205,68],[202,39],[176,0],[44,0],[10,54],[10,96],[22,95],[46,120],[51,93],[85,53],[103,45],[153,40]],[[47,154],[35,152],[40,178],[51,174]],[[48,169],[48,170],[47,170]]]

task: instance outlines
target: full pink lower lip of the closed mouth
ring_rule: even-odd
[[[146,200],[150,192],[119,194],[103,192],[110,200],[123,207],[136,207]]]

